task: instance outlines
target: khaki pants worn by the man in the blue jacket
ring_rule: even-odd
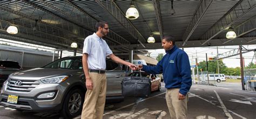
[[[188,95],[184,100],[179,100],[179,88],[171,88],[166,90],[166,103],[172,119],[186,118]]]

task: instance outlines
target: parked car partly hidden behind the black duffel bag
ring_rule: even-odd
[[[155,74],[150,74],[144,71],[141,71],[142,77],[147,77],[151,80],[151,92],[152,91],[161,91],[161,79],[155,75]],[[140,72],[139,71],[134,71],[130,73],[128,77],[140,77]]]

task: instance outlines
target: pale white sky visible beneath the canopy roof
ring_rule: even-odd
[[[254,45],[243,45],[246,49],[255,49],[256,44]],[[223,54],[227,51],[231,51],[233,49],[239,48],[239,46],[219,46],[218,51],[219,54]],[[156,50],[148,50],[151,54],[150,56],[156,58],[158,54],[163,53],[165,55],[164,49],[156,49]],[[184,51],[187,53],[190,61],[198,58],[198,62],[206,61],[206,53],[207,57],[215,57],[217,55],[217,47],[197,47],[197,48],[184,48]],[[250,62],[255,64],[255,56],[254,51],[250,51],[248,53],[242,54],[245,58],[245,66],[247,66]],[[236,55],[233,57],[228,57],[223,59],[224,64],[228,68],[236,68],[240,67],[240,56]]]

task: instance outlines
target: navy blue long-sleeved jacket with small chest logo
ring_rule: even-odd
[[[190,62],[185,51],[175,45],[167,50],[156,66],[143,65],[143,71],[163,73],[165,88],[180,88],[179,93],[186,95],[192,85]]]

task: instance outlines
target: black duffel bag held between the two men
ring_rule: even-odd
[[[125,77],[122,80],[122,95],[131,97],[148,97],[151,93],[151,81],[147,77],[142,77],[139,71],[139,77]]]

